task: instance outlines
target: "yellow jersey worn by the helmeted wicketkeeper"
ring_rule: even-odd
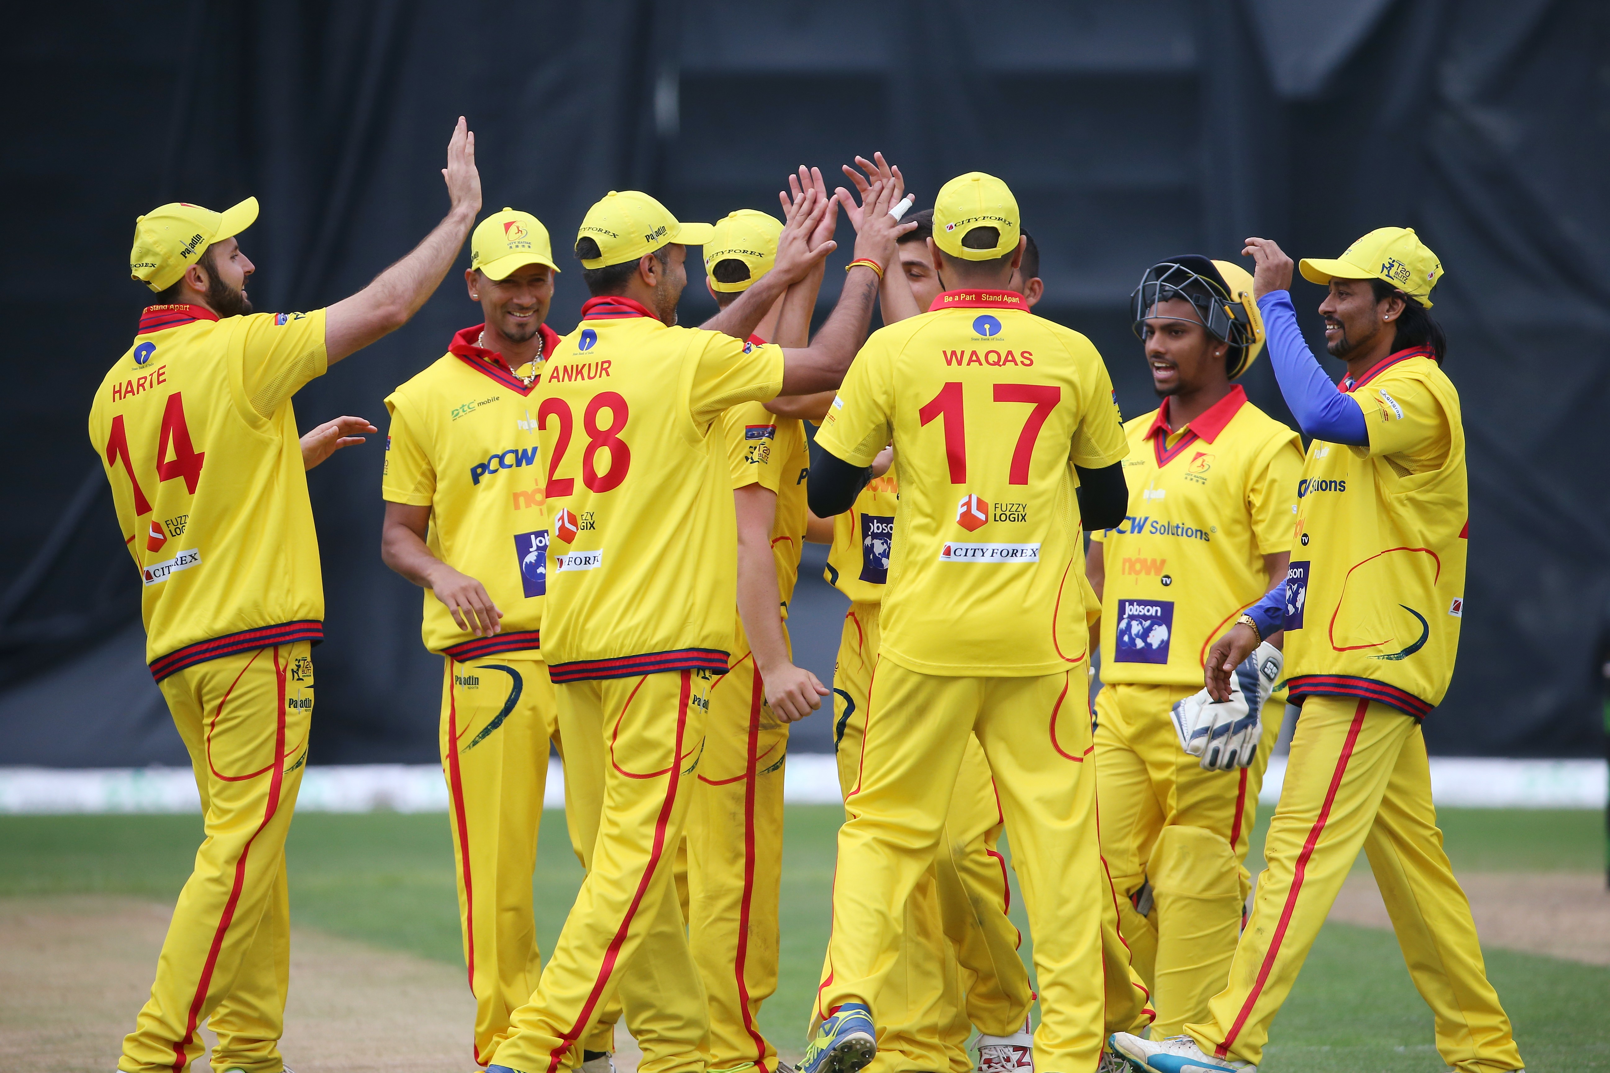
[[[1199,685],[1208,645],[1291,549],[1302,447],[1241,384],[1169,430],[1169,399],[1124,426],[1129,516],[1101,541],[1101,680]]]

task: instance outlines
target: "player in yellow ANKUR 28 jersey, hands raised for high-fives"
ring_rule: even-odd
[[[857,238],[839,304],[805,349],[744,339],[832,249],[810,241],[831,211],[815,190],[791,211],[773,269],[710,322],[718,331],[675,327],[687,246],[710,241],[708,224],[681,224],[636,191],[610,193],[581,224],[576,254],[594,298],[539,389],[551,532],[543,652],[567,764],[601,772],[602,809],[588,877],[494,1073],[573,1067],[599,1007],[620,989],[631,1022],[639,988],[691,1039],[679,1062],[650,1073],[705,1068],[708,1013],[670,857],[710,682],[731,669],[734,647],[737,532],[718,418],[842,378],[902,230],[887,217],[890,193],[879,193],[879,224]]]

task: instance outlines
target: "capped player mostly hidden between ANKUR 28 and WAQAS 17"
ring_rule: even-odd
[[[716,222],[704,262],[721,309],[771,270],[781,233],[776,217],[753,209]],[[821,262],[807,280],[819,283]],[[791,286],[750,341],[803,346],[815,299],[815,286]],[[789,317],[779,336],[784,302],[803,315]],[[810,449],[799,418],[774,417],[760,402],[726,410],[721,436],[737,515],[737,623],[731,669],[710,684],[687,812],[687,939],[710,1005],[708,1068],[773,1073],[778,1052],[758,1017],[778,986],[787,724],[808,716],[807,695],[821,692],[810,671],[794,666],[784,626],[805,534]]]

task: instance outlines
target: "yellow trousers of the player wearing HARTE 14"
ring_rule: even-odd
[[[290,986],[285,833],[308,764],[308,642],[175,671],[163,698],[190,751],[206,840],[179,893],[151,997],[119,1070],[182,1073],[217,1033],[213,1068],[279,1073]]]

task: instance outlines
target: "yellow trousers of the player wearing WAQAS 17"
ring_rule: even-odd
[[[1103,901],[1111,906],[1111,890],[1096,845],[1084,682],[1084,664],[1038,677],[942,677],[876,663],[858,777],[839,830],[819,1012],[866,1002],[877,1020],[900,954],[903,907],[940,849],[976,735],[1000,793],[1035,936],[1035,1067],[1095,1068],[1106,1017]]]

